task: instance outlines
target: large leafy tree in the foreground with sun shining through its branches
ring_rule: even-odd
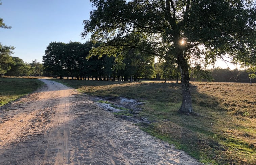
[[[206,64],[230,57],[255,62],[255,3],[244,0],[91,0],[82,36],[92,33],[98,51],[136,48],[175,61],[181,72],[179,109],[193,113],[191,61]],[[191,60],[193,59],[193,60]]]

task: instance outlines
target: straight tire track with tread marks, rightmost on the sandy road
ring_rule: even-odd
[[[70,132],[68,122],[70,89],[62,84],[61,86],[62,90],[58,90],[58,95],[61,96],[61,99],[52,121],[47,151],[44,158],[45,165],[67,164],[69,162]]]

